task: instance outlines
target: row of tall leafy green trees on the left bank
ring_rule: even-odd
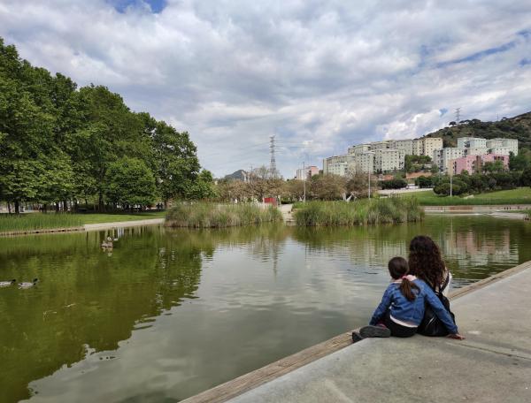
[[[0,201],[103,210],[212,192],[188,133],[30,65],[0,38]]]

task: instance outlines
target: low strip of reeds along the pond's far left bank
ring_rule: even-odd
[[[164,217],[164,211],[135,214],[24,213],[1,214],[0,232],[36,231],[79,227],[83,224],[112,223]]]

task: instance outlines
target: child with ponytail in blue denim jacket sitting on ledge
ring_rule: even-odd
[[[412,337],[422,322],[426,302],[450,332],[448,337],[464,338],[432,289],[419,278],[408,275],[408,270],[407,261],[402,257],[393,257],[389,261],[389,274],[394,281],[385,290],[369,326],[361,328],[359,333],[352,333],[354,342],[361,338],[389,338],[391,335]]]

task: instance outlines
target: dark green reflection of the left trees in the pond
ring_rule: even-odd
[[[118,348],[135,326],[192,298],[202,249],[157,229],[135,228],[112,255],[104,233],[2,240],[3,277],[41,278],[32,290],[3,290],[0,400],[29,396],[27,384],[96,352]],[[140,236],[142,235],[142,236]]]

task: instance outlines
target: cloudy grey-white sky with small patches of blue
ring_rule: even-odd
[[[285,177],[351,144],[531,110],[531,2],[0,0],[0,36],[196,142]]]

